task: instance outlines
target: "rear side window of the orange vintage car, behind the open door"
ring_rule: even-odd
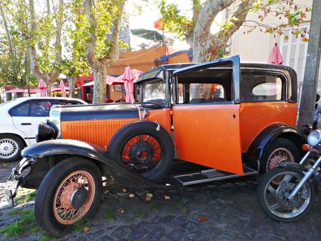
[[[285,81],[277,75],[245,73],[241,80],[241,101],[283,101]]]

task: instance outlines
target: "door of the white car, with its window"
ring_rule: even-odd
[[[15,128],[22,131],[30,143],[35,142],[36,125],[49,117],[52,101],[50,99],[29,100],[11,108],[9,115]]]

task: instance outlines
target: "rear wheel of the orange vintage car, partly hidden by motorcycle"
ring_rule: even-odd
[[[291,140],[276,138],[266,149],[264,159],[260,166],[260,173],[264,174],[276,168],[280,161],[298,162],[299,160],[299,149]]]

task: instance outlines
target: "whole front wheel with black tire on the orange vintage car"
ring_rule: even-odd
[[[58,163],[38,188],[34,205],[37,224],[54,237],[69,233],[73,224],[95,214],[101,190],[101,172],[92,161],[73,157]]]

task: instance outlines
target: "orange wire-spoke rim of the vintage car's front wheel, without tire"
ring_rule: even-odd
[[[90,209],[94,200],[94,178],[84,170],[77,170],[59,185],[53,202],[57,221],[74,224]]]

